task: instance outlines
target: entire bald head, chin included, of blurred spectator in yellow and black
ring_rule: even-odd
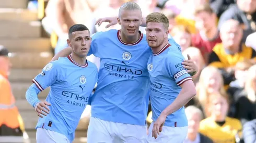
[[[220,29],[220,38],[222,39],[223,46],[227,50],[234,52],[232,54],[237,53],[242,35],[242,28],[238,21],[235,20],[226,21]]]

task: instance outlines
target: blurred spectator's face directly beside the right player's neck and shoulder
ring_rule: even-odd
[[[182,51],[191,45],[191,35],[187,32],[180,31],[173,36],[173,39],[180,44]]]

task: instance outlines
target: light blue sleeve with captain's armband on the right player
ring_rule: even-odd
[[[188,80],[192,80],[187,69],[183,68],[184,57],[180,54],[173,54],[167,58],[166,67],[169,75],[175,80],[178,86]]]

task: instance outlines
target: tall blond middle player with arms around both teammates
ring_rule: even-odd
[[[91,98],[87,134],[90,143],[146,142],[150,84],[147,61],[152,50],[145,35],[138,30],[142,11],[136,3],[124,3],[119,9],[118,21],[121,30],[92,36],[89,54],[100,58],[100,70]],[[70,48],[63,49],[53,60],[70,52]],[[190,66],[188,69],[196,69],[193,61],[188,62],[184,63]]]

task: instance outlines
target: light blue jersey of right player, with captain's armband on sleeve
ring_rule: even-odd
[[[150,74],[150,102],[152,120],[156,121],[160,113],[168,107],[181,91],[180,85],[192,80],[187,69],[183,68],[184,57],[179,45],[173,40],[148,60],[147,69]],[[166,118],[165,126],[188,126],[184,107]]]

